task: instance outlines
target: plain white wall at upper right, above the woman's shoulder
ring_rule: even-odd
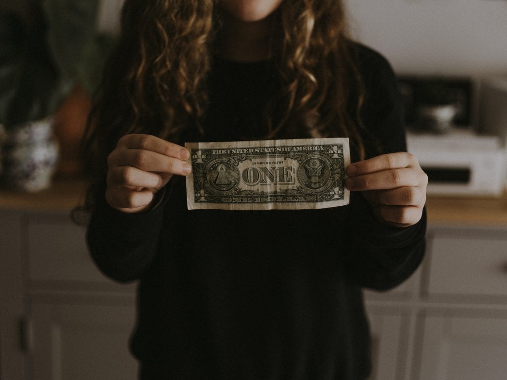
[[[353,36],[404,74],[507,73],[505,0],[345,0]]]

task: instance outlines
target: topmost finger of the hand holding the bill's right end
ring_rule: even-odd
[[[347,167],[347,175],[355,177],[358,175],[376,173],[389,169],[406,168],[416,165],[418,166],[419,163],[415,156],[410,153],[389,153],[350,164]]]

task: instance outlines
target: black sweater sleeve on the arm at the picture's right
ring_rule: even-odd
[[[368,158],[379,153],[406,151],[402,101],[395,74],[385,58],[375,52],[367,51],[360,57],[367,89],[361,117],[370,133],[365,140]],[[426,212],[414,226],[389,227],[375,219],[363,197],[359,194],[353,197],[350,220],[346,224],[351,237],[347,250],[350,268],[364,287],[387,290],[399,285],[423,258]]]

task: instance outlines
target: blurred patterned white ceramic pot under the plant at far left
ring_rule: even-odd
[[[38,192],[51,185],[59,157],[54,119],[28,122],[9,131],[3,149],[4,176],[10,187]]]

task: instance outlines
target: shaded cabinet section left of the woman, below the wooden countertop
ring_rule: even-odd
[[[0,211],[1,380],[136,378],[135,285],[100,274],[68,214]]]

